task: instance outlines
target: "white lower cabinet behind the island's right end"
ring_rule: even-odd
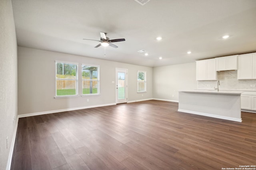
[[[256,95],[241,95],[241,109],[256,110]]]

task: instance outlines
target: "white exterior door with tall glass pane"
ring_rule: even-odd
[[[127,69],[116,68],[116,104],[127,103]]]

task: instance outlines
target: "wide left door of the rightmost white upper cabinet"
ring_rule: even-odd
[[[237,79],[252,79],[252,54],[238,56]]]

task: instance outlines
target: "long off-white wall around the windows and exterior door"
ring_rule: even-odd
[[[100,66],[100,96],[55,99],[55,61]],[[51,51],[18,47],[18,114],[49,112],[116,103],[116,68],[128,69],[128,101],[152,98],[152,68],[82,57]],[[137,71],[147,72],[147,93],[137,93]],[[78,67],[78,76],[81,68]],[[79,78],[78,94],[82,92]],[[89,102],[87,102],[89,99]]]

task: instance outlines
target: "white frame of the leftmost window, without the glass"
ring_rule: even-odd
[[[56,72],[56,66],[57,63],[63,63],[63,64],[74,64],[76,65],[76,79],[71,79],[71,78],[63,78],[65,80],[76,80],[76,94],[75,95],[62,95],[62,96],[57,96],[57,80],[60,80],[60,78],[57,78],[57,72]],[[78,65],[79,63],[72,63],[72,62],[67,62],[67,61],[55,61],[55,96],[54,98],[76,98],[78,97]]]

